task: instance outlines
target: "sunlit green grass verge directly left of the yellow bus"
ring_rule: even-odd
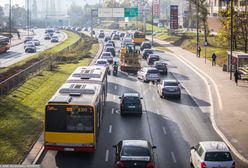
[[[97,51],[96,44],[89,49],[92,55]],[[88,65],[91,60],[84,58],[77,64],[60,64],[56,71],[43,71],[9,95],[0,97],[0,164],[23,160],[43,130],[47,101],[76,67]]]

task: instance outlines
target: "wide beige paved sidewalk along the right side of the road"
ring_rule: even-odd
[[[205,64],[204,58],[198,58],[195,54],[168,42],[157,39],[154,39],[154,42],[164,45],[175,56],[183,57],[202,72],[201,75],[207,79],[211,87],[213,117],[217,129],[229,141],[231,148],[233,146],[239,154],[235,152],[235,149],[234,153],[248,163],[248,82],[239,80],[239,86],[235,86],[234,80],[230,80],[230,73],[223,72],[222,67],[213,67],[209,60]]]

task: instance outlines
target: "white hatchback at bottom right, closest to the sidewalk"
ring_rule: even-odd
[[[235,168],[231,152],[222,141],[202,141],[191,147],[190,164],[194,168]]]

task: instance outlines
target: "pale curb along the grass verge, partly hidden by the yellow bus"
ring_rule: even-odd
[[[96,57],[92,60],[92,62],[89,65],[92,65],[96,58],[100,56],[100,54],[103,51],[103,44],[99,43],[100,47],[96,54]],[[32,147],[29,150],[29,153],[26,155],[24,161],[21,163],[22,165],[34,165],[39,160],[40,156],[44,152],[44,132],[41,133],[38,140],[32,145]]]

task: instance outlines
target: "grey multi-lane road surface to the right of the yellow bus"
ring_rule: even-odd
[[[112,145],[123,139],[143,139],[157,146],[156,168],[189,168],[191,146],[199,141],[221,140],[211,125],[209,113],[202,112],[202,108],[187,92],[189,89],[183,88],[192,87],[194,92],[207,94],[203,80],[176,57],[164,53],[159,55],[169,67],[168,75],[162,79],[176,78],[180,81],[181,100],[161,99],[156,84],[143,83],[135,75],[118,72],[116,77],[109,76],[108,97],[97,151],[93,154],[48,151],[42,155],[38,164],[45,168],[111,168],[114,167]],[[146,66],[146,62],[142,61],[142,65]],[[143,97],[141,118],[120,116],[118,97],[125,92],[139,92]],[[210,108],[209,101],[200,101],[203,109]],[[235,160],[236,168],[245,167],[237,158]]]

